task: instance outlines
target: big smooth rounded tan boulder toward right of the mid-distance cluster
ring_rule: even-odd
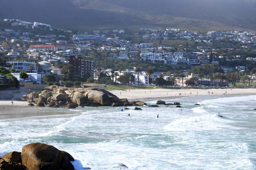
[[[111,105],[111,98],[102,91],[90,91],[86,94],[86,96],[89,100],[97,102],[103,106]]]

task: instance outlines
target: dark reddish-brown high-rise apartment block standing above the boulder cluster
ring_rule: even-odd
[[[93,78],[94,62],[77,56],[70,56],[69,63],[74,66],[74,74]]]

